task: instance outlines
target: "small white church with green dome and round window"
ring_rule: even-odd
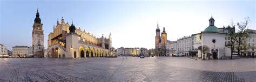
[[[200,34],[201,46],[198,50],[198,57],[203,59],[220,59],[221,57],[230,57],[231,49],[225,46],[226,33],[220,32],[219,28],[214,26],[214,19],[209,19],[209,26]],[[205,50],[204,48],[208,48]],[[204,51],[203,51],[204,50]]]

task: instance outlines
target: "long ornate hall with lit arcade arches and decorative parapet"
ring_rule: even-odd
[[[76,28],[75,25],[61,23],[57,20],[53,32],[48,35],[48,57],[54,58],[87,58],[87,57],[112,57],[112,38],[102,35],[96,38],[89,32]]]

